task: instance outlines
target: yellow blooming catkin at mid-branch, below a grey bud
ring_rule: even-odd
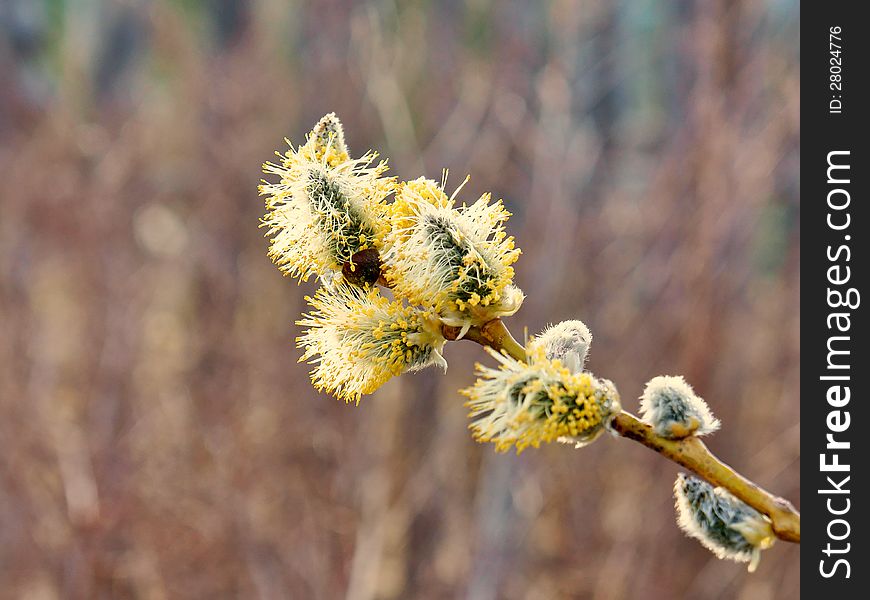
[[[619,395],[607,380],[573,373],[542,347],[528,348],[528,362],[490,351],[498,369],[477,365],[479,379],[462,390],[468,396],[469,426],[480,442],[496,450],[522,452],[541,443],[593,441],[619,412]]]

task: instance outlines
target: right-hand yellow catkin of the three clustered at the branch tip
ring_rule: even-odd
[[[390,209],[387,280],[412,304],[435,310],[447,325],[468,327],[514,314],[523,293],[512,285],[520,255],[505,234],[510,213],[489,194],[454,207],[430,179],[402,184]]]

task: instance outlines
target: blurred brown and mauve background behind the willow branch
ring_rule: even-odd
[[[311,388],[260,166],[324,113],[505,199],[521,336],[580,318],[624,405],[683,374],[799,501],[797,0],[0,0],[0,598],[799,596],[674,522],[625,440],[475,444],[473,344]]]

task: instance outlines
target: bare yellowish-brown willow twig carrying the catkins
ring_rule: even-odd
[[[457,339],[458,327],[443,327],[444,337]],[[501,319],[495,319],[480,327],[471,327],[463,339],[489,346],[504,352],[516,360],[525,361],[526,351],[517,342]],[[699,438],[690,436],[681,440],[661,437],[653,428],[634,415],[620,412],[610,422],[611,429],[620,436],[643,444],[665,458],[692,471],[709,483],[722,487],[757,510],[767,515],[778,538],[800,543],[801,516],[788,500],[771,494],[719,460]]]

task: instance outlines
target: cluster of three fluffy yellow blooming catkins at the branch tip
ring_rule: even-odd
[[[442,325],[464,335],[520,307],[510,266],[520,250],[504,232],[510,213],[501,201],[486,194],[456,207],[443,184],[397,185],[384,177],[385,162],[373,164],[376,153],[351,158],[334,114],[279,156],[263,165],[279,181],[260,185],[262,224],[282,272],[323,284],[298,323],[308,327],[298,343],[318,389],[358,402],[400,373],[446,368]]]

